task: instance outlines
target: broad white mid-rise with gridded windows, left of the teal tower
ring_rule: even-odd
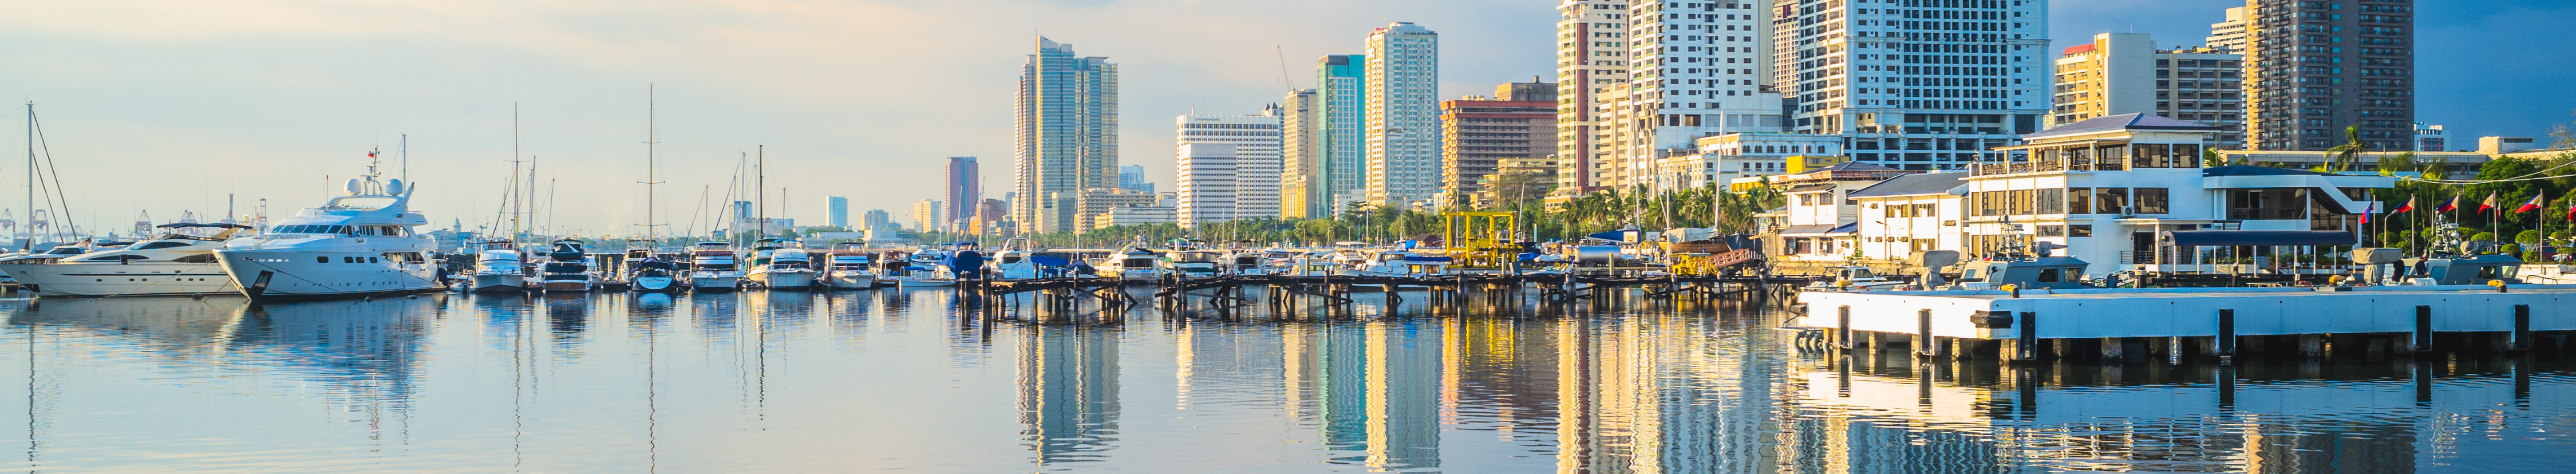
[[[1262,116],[1180,116],[1180,224],[1280,216],[1280,108]]]

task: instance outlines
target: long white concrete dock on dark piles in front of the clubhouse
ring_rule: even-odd
[[[2517,353],[2576,330],[2576,286],[1803,291],[1819,345],[1932,358]]]

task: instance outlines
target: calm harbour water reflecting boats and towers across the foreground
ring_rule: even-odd
[[[2576,471],[2566,356],[1914,366],[1736,304],[1373,299],[0,299],[0,471]]]

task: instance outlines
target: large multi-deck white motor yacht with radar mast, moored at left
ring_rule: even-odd
[[[368,165],[348,180],[348,196],[296,211],[268,234],[224,242],[214,255],[250,299],[438,291],[438,265],[428,258],[438,242],[412,234],[430,224],[410,209],[415,188],[376,178]]]

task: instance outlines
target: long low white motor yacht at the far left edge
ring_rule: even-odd
[[[28,258],[0,263],[21,286],[39,296],[167,296],[234,294],[214,250],[250,229],[242,224],[160,224],[162,237],[121,250],[77,252],[70,258]]]

